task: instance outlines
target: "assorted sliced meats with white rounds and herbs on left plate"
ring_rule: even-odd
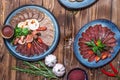
[[[25,56],[44,53],[52,45],[55,29],[52,20],[45,13],[26,8],[10,20],[14,27],[13,45]]]

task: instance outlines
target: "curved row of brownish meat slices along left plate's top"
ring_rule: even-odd
[[[40,12],[37,9],[24,9],[21,12],[17,13],[11,20],[10,20],[10,24],[14,27],[16,27],[16,25],[19,22],[23,22],[27,19],[37,19],[39,22],[41,22],[44,18],[45,18],[45,14],[43,12]]]

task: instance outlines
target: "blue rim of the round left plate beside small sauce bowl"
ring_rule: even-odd
[[[19,54],[19,53],[14,53],[13,50],[8,46],[8,39],[4,39],[4,38],[3,38],[3,41],[4,41],[7,49],[9,50],[10,54],[12,54],[12,55],[13,55],[14,57],[16,57],[17,59],[21,59],[21,60],[25,60],[25,61],[38,61],[38,60],[41,60],[41,59],[45,58],[45,56],[53,53],[53,51],[57,48],[57,45],[58,45],[59,40],[60,40],[60,27],[59,27],[59,23],[58,23],[56,17],[54,16],[54,14],[53,14],[52,12],[50,12],[48,9],[46,9],[46,8],[43,7],[43,6],[35,5],[35,4],[33,4],[33,5],[22,5],[22,6],[17,7],[16,9],[12,10],[12,11],[8,14],[8,16],[6,17],[6,19],[5,19],[5,21],[4,21],[4,25],[6,25],[7,20],[9,19],[9,17],[10,17],[15,11],[17,11],[17,10],[19,10],[19,9],[22,9],[22,8],[27,8],[27,7],[37,7],[37,8],[42,9],[41,11],[42,11],[42,12],[44,12],[44,11],[47,12],[47,14],[48,14],[47,16],[52,20],[53,25],[54,25],[54,28],[55,28],[57,31],[55,31],[56,35],[55,35],[55,38],[54,38],[54,41],[53,41],[52,45],[50,46],[50,49],[48,49],[48,50],[47,50],[46,52],[44,52],[43,54],[38,55],[39,57],[34,58],[34,56],[33,56],[33,58],[31,58],[31,57],[27,57],[27,56],[22,56],[22,55]],[[44,13],[45,13],[45,12],[44,12]],[[45,14],[46,14],[46,13],[45,13]],[[15,51],[15,52],[16,52],[16,51]],[[19,56],[19,55],[20,55],[20,56]]]

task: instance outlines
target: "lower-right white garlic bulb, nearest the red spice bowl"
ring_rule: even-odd
[[[58,77],[61,77],[65,74],[65,67],[60,64],[60,63],[57,63],[53,69],[52,69],[53,73],[58,76]]]

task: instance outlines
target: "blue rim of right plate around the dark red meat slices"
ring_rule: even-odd
[[[88,22],[87,24],[85,24],[85,25],[83,25],[82,26],[82,28],[78,31],[78,33],[75,35],[75,38],[74,38],[74,42],[73,42],[73,51],[74,51],[74,55],[76,56],[76,58],[77,58],[77,60],[81,63],[81,64],[83,64],[85,67],[88,67],[88,68],[99,68],[99,67],[102,67],[102,66],[104,66],[104,65],[106,65],[106,64],[108,64],[109,62],[111,62],[117,55],[118,55],[118,52],[119,52],[119,50],[120,50],[120,46],[119,47],[117,47],[118,49],[118,51],[116,51],[116,54],[114,55],[114,57],[112,58],[112,59],[108,59],[108,61],[106,62],[106,63],[104,63],[104,64],[102,64],[102,65],[98,65],[98,66],[90,66],[90,62],[88,62],[89,63],[89,65],[86,65],[86,63],[85,62],[83,62],[83,61],[85,61],[86,59],[84,59],[83,58],[83,61],[81,61],[80,59],[81,58],[79,58],[79,56],[82,56],[81,54],[80,54],[80,52],[79,52],[79,54],[78,53],[76,53],[76,41],[77,41],[77,37],[78,37],[78,35],[79,35],[79,33],[80,33],[80,31],[83,29],[83,28],[86,28],[86,26],[88,26],[89,24],[92,24],[92,25],[95,25],[94,24],[94,22],[95,21],[99,21],[99,22],[101,22],[101,21],[107,21],[107,22],[110,22],[112,25],[114,25],[115,27],[116,27],[116,29],[118,30],[118,32],[119,32],[119,38],[117,39],[117,40],[119,40],[118,41],[118,46],[120,45],[120,30],[119,30],[119,28],[117,27],[117,25],[116,24],[114,24],[112,21],[110,21],[110,20],[107,20],[107,19],[96,19],[96,20],[92,20],[92,21],[90,21],[90,22]],[[96,23],[97,24],[97,23]],[[90,27],[90,26],[88,26],[88,27]],[[88,28],[87,27],[87,28]],[[83,32],[83,31],[82,31]],[[79,36],[79,38],[80,38],[80,36]],[[78,45],[78,44],[77,44]],[[99,63],[99,62],[98,62]]]

